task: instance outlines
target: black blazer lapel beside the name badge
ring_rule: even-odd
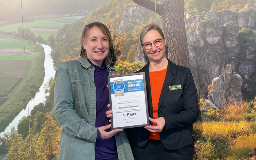
[[[174,74],[176,74],[175,65],[174,65],[174,63],[172,63],[172,61],[170,61],[168,59],[168,66],[167,66],[167,70],[166,70],[166,76],[165,76],[165,79],[164,79],[163,88],[162,88],[162,91],[161,91],[161,94],[160,94],[160,97],[159,97],[159,102],[158,102],[158,111],[161,108],[161,105],[162,105],[162,103],[165,99],[165,96],[167,95],[168,91],[170,90],[169,86],[172,85],[172,81],[173,81],[173,76],[172,75],[174,75]]]

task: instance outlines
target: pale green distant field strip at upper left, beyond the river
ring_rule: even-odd
[[[67,22],[56,22],[52,20],[35,20],[33,22],[25,22],[24,28],[61,28],[65,24],[72,24]],[[4,32],[18,32],[18,27],[22,27],[22,23],[16,23],[0,27],[0,31]]]

